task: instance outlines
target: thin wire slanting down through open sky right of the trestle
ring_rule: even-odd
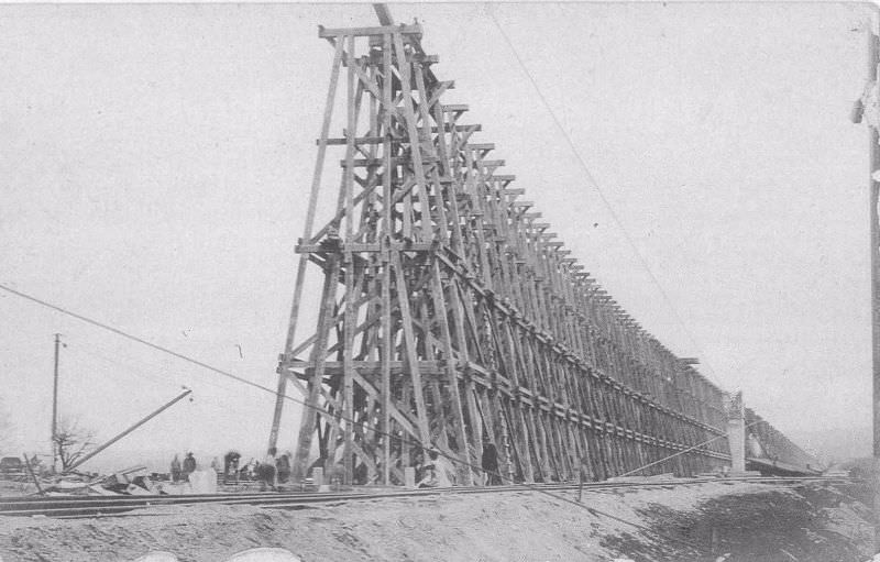
[[[694,345],[694,348],[696,348],[697,353],[701,354],[701,363],[703,365],[705,365],[706,367],[708,367],[708,370],[713,373],[713,375],[715,375],[715,378],[717,378],[718,377],[717,372],[712,366],[712,364],[710,364],[708,360],[706,360],[705,353],[702,351],[702,348],[701,348],[700,343],[696,341],[696,338],[694,338],[694,335],[688,329],[688,326],[685,324],[685,322],[682,319],[682,317],[679,315],[675,305],[672,302],[672,299],[669,297],[669,294],[663,288],[663,285],[660,283],[660,279],[657,278],[657,275],[654,275],[653,271],[651,269],[650,265],[648,264],[648,261],[645,258],[645,256],[639,251],[638,246],[636,245],[636,242],[632,240],[632,236],[629,234],[629,231],[626,229],[626,227],[624,227],[624,223],[620,220],[620,217],[617,214],[617,211],[615,211],[614,206],[608,200],[608,197],[605,195],[605,191],[602,189],[602,186],[600,186],[600,184],[596,180],[595,176],[593,176],[593,173],[590,170],[590,167],[586,165],[586,162],[584,161],[583,156],[581,156],[581,152],[578,150],[578,146],[574,144],[574,141],[571,139],[571,135],[565,130],[565,128],[562,125],[562,122],[560,121],[560,119],[557,117],[556,111],[553,111],[552,107],[550,106],[550,102],[547,100],[547,97],[543,95],[543,91],[541,90],[540,86],[538,86],[538,80],[532,76],[532,74],[529,70],[528,66],[526,66],[525,60],[522,60],[522,57],[519,55],[519,52],[517,51],[517,48],[514,46],[513,42],[510,41],[510,37],[504,31],[504,29],[502,27],[502,25],[498,22],[497,18],[495,16],[494,5],[487,4],[486,12],[488,13],[490,19],[492,19],[492,21],[495,24],[495,26],[498,29],[498,32],[501,33],[502,37],[504,37],[504,42],[507,44],[507,47],[510,49],[510,53],[513,53],[514,58],[516,58],[516,62],[519,65],[520,69],[522,70],[522,73],[528,78],[529,82],[531,84],[531,87],[535,89],[535,92],[538,95],[538,98],[541,100],[541,103],[543,104],[544,109],[550,114],[550,118],[552,119],[552,121],[556,124],[557,129],[559,130],[560,133],[562,133],[562,137],[565,140],[565,143],[569,145],[569,148],[571,150],[572,154],[574,154],[574,158],[578,161],[578,164],[581,167],[581,172],[583,172],[584,177],[586,177],[587,181],[590,184],[592,184],[593,188],[598,194],[600,199],[602,200],[602,203],[605,206],[605,208],[607,209],[608,213],[612,216],[612,219],[614,220],[614,222],[620,229],[620,232],[623,233],[624,239],[626,240],[626,242],[629,245],[629,247],[632,250],[632,253],[635,254],[636,260],[638,261],[639,265],[641,265],[641,267],[648,274],[648,277],[650,277],[651,282],[654,284],[654,286],[659,290],[660,295],[663,297],[663,300],[667,302],[667,306],[672,311],[672,315],[675,317],[675,320],[679,322],[679,324],[681,324],[681,328],[682,328],[682,331],[684,332],[684,334],[688,337],[689,340],[691,340],[691,343]]]

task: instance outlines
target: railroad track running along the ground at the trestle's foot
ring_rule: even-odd
[[[859,482],[847,477],[730,477],[730,478],[674,478],[664,481],[636,482],[590,482],[584,483],[584,492],[601,492],[619,488],[656,488],[705,484],[711,482],[755,482],[768,484],[802,484],[804,482]],[[95,518],[146,515],[144,508],[168,506],[196,506],[202,504],[253,505],[279,509],[306,508],[316,504],[340,504],[395,498],[427,498],[441,495],[504,494],[522,492],[578,492],[579,484],[535,484],[491,487],[455,487],[430,489],[354,489],[345,492],[287,492],[287,493],[240,493],[206,494],[189,496],[28,496],[0,500],[0,516],[53,517],[53,518]],[[150,515],[161,515],[155,510]]]

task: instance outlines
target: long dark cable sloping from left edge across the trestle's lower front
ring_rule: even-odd
[[[15,295],[18,297],[21,297],[21,298],[23,298],[25,300],[30,300],[31,302],[34,302],[34,304],[41,305],[43,307],[50,308],[50,309],[55,310],[56,312],[59,312],[62,315],[69,316],[72,318],[76,318],[77,320],[80,320],[80,321],[86,322],[88,324],[95,326],[95,327],[100,328],[102,330],[109,331],[111,333],[114,333],[117,335],[125,338],[125,339],[128,339],[130,341],[133,341],[135,343],[140,343],[142,345],[146,345],[147,348],[157,350],[157,351],[160,351],[162,353],[167,353],[167,354],[169,354],[169,355],[172,355],[174,357],[177,357],[177,359],[179,359],[182,361],[191,363],[194,365],[198,365],[198,366],[200,366],[202,368],[206,368],[206,370],[211,371],[213,373],[217,373],[219,375],[229,377],[229,378],[231,378],[233,381],[238,381],[239,383],[245,384],[245,385],[248,385],[250,387],[257,388],[260,390],[270,393],[273,396],[278,396],[278,393],[275,389],[268,388],[268,387],[263,386],[263,385],[261,385],[258,383],[254,383],[254,382],[249,381],[249,379],[246,379],[244,377],[238,376],[238,375],[235,375],[233,373],[230,373],[230,372],[224,371],[222,368],[219,368],[219,367],[216,367],[216,366],[210,365],[208,363],[205,363],[204,361],[200,361],[200,360],[197,360],[195,357],[190,357],[190,356],[185,355],[183,353],[176,352],[174,350],[165,348],[164,345],[160,345],[157,343],[151,342],[151,341],[145,340],[143,338],[140,338],[138,335],[131,334],[131,333],[129,333],[129,332],[127,332],[124,330],[121,330],[119,328],[114,328],[112,326],[109,326],[109,324],[107,324],[105,322],[101,322],[99,320],[95,320],[95,319],[92,319],[90,317],[87,317],[85,315],[80,315],[78,312],[74,312],[73,310],[68,310],[68,309],[66,309],[64,307],[61,307],[58,305],[54,305],[52,302],[48,302],[48,301],[43,300],[41,298],[37,298],[37,297],[33,296],[33,295],[29,295],[29,294],[23,293],[21,290],[14,289],[14,288],[9,287],[9,286],[7,286],[4,284],[0,284],[0,290],[6,290],[7,293],[10,293],[10,294]],[[294,398],[293,396],[284,395],[283,398],[285,398],[287,400],[290,400],[290,401],[293,401],[295,404],[299,404],[299,405],[301,405],[304,407],[312,408],[316,411],[318,411],[320,414],[323,414],[326,416],[332,416],[332,417],[336,417],[337,419],[346,421],[349,423],[356,423],[356,420],[349,419],[349,418],[346,418],[344,415],[342,415],[340,412],[331,412],[329,410],[326,410],[324,408],[321,408],[320,406],[317,406],[317,405],[314,405],[314,404],[309,404],[309,403],[307,403],[305,400],[300,400],[300,399]],[[378,436],[386,437],[388,439],[397,439],[402,443],[407,442],[408,444],[416,444],[416,445],[418,445],[419,448],[421,448],[424,450],[432,450],[439,456],[443,456],[444,459],[448,459],[450,462],[460,464],[462,466],[466,466],[466,467],[469,467],[471,470],[475,470],[475,471],[485,473],[487,475],[498,476],[503,481],[508,481],[508,482],[510,482],[513,484],[522,486],[526,489],[529,489],[529,491],[532,491],[532,492],[538,492],[540,494],[550,496],[550,497],[552,497],[554,499],[558,499],[558,500],[561,500],[561,502],[564,502],[564,503],[568,503],[568,504],[572,504],[572,505],[578,506],[578,507],[580,507],[582,509],[586,509],[591,514],[597,514],[597,515],[606,517],[608,519],[613,519],[613,520],[616,520],[618,522],[623,522],[625,525],[629,525],[629,526],[631,526],[634,528],[637,528],[637,529],[644,530],[646,532],[649,532],[649,533],[651,533],[651,535],[653,535],[653,536],[656,536],[658,538],[661,538],[661,539],[664,539],[664,540],[669,540],[669,541],[673,541],[673,542],[678,542],[680,544],[685,544],[685,546],[688,546],[690,548],[693,548],[696,551],[704,550],[704,548],[702,548],[702,547],[697,546],[696,543],[694,543],[692,541],[689,541],[686,539],[682,539],[682,538],[679,538],[679,537],[673,537],[673,536],[670,536],[670,535],[666,535],[663,532],[660,532],[660,531],[657,531],[654,529],[651,529],[650,527],[646,527],[646,526],[644,526],[641,524],[638,524],[638,522],[635,522],[635,521],[629,521],[627,519],[617,517],[617,516],[615,516],[613,514],[608,514],[606,511],[603,511],[603,510],[596,509],[594,507],[587,506],[585,504],[582,504],[582,503],[580,503],[578,500],[568,498],[568,497],[562,496],[560,494],[554,494],[554,493],[552,493],[550,491],[542,489],[539,486],[530,485],[530,484],[527,484],[527,483],[518,483],[514,478],[505,476],[501,472],[486,471],[482,466],[477,466],[477,465],[472,464],[472,463],[470,463],[468,461],[462,461],[461,459],[458,459],[458,458],[455,458],[453,455],[444,453],[435,443],[424,443],[422,441],[420,441],[418,439],[415,439],[415,438],[408,438],[407,439],[407,438],[404,438],[402,436],[395,436],[393,433],[389,433],[389,432],[386,432],[386,431],[383,431],[383,430],[378,430],[378,429],[373,429],[371,431],[376,433],[376,434],[378,434]]]

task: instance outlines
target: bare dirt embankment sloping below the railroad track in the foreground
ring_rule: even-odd
[[[300,510],[154,508],[127,518],[0,519],[10,561],[130,561],[167,550],[216,561],[253,547],[311,561],[864,561],[860,491],[712,483],[584,494],[441,495]],[[574,498],[576,493],[566,493]],[[610,516],[610,517],[609,517]],[[631,525],[635,524],[635,525]]]

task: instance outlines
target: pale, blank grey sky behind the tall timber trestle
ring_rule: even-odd
[[[868,140],[848,120],[866,4],[391,8],[642,327],[783,432],[870,425]],[[0,284],[273,388],[333,54],[319,24],[376,19],[0,7]],[[89,466],[265,448],[271,393],[3,291],[0,319],[3,454],[48,452],[56,332],[59,410],[98,440],[194,390]]]

